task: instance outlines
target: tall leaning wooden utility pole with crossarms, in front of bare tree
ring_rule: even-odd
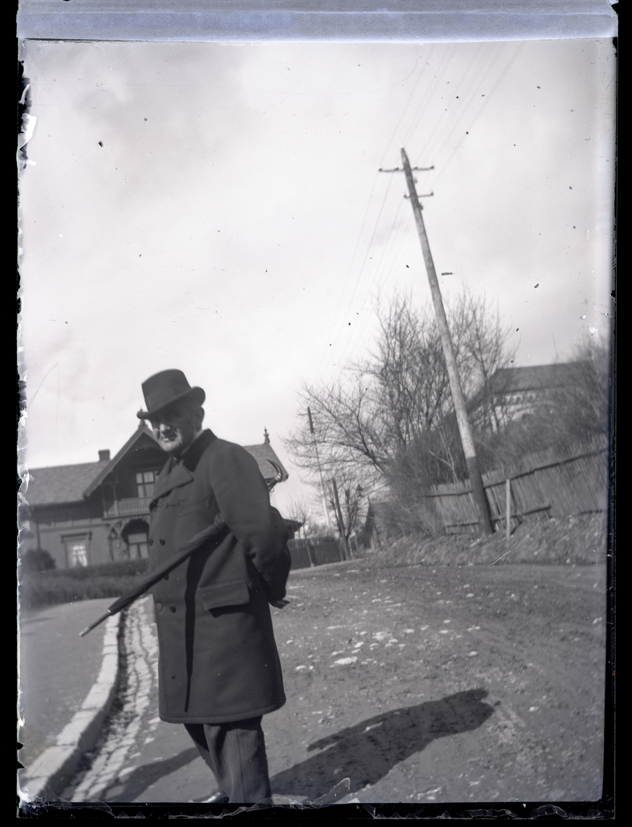
[[[408,156],[404,148],[401,151],[401,160],[404,165],[404,174],[406,177],[406,184],[408,184],[410,205],[413,208],[414,221],[417,225],[417,234],[421,242],[421,251],[424,256],[424,265],[428,280],[430,284],[430,293],[433,297],[434,314],[437,318],[437,326],[439,336],[441,337],[441,344],[443,347],[443,356],[445,357],[446,367],[448,369],[448,378],[450,380],[450,390],[452,391],[452,402],[454,403],[454,410],[457,414],[458,431],[461,435],[461,444],[463,453],[465,454],[465,461],[467,463],[467,474],[470,477],[470,485],[472,485],[472,500],[476,513],[478,514],[478,524],[485,534],[494,533],[494,527],[491,523],[490,505],[487,501],[485,488],[483,487],[483,480],[481,477],[481,469],[478,466],[476,459],[476,449],[474,447],[474,437],[472,436],[472,427],[467,418],[467,410],[465,407],[465,397],[461,387],[461,380],[458,375],[457,360],[454,356],[452,348],[452,339],[450,338],[450,330],[448,328],[448,319],[446,318],[445,308],[443,308],[443,299],[441,298],[441,290],[437,279],[437,273],[434,270],[433,256],[430,253],[430,245],[428,236],[426,235],[426,228],[424,226],[424,218],[421,214],[421,204],[419,203],[419,196],[414,185],[413,171],[410,169]],[[395,172],[401,170],[382,170],[384,172]]]

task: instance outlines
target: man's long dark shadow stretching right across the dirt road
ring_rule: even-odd
[[[309,744],[308,751],[323,752],[271,778],[272,791],[314,801],[345,777],[351,780],[350,792],[373,785],[434,739],[478,729],[493,712],[482,702],[486,696],[484,689],[457,692],[341,729]]]

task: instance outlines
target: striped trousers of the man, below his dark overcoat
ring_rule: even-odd
[[[184,724],[231,803],[271,797],[261,716],[230,724]]]

